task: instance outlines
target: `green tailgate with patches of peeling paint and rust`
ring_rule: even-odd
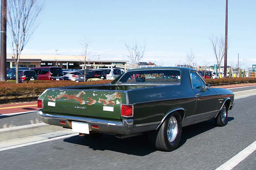
[[[123,91],[49,89],[43,100],[43,111],[82,117],[121,119],[121,99],[126,100],[125,97]]]

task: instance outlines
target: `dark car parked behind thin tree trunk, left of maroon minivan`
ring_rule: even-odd
[[[16,70],[9,71],[6,75],[6,80],[16,80]],[[38,76],[33,70],[19,70],[19,83],[25,81],[38,80]]]

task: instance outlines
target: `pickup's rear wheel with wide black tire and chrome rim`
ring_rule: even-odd
[[[170,121],[170,124],[169,124]],[[176,123],[175,123],[176,121]],[[171,123],[174,122],[174,123]],[[170,125],[174,124],[170,129]],[[169,134],[169,135],[168,135]],[[182,119],[178,112],[173,112],[168,116],[158,130],[150,131],[150,144],[161,151],[173,151],[179,143],[182,134]],[[169,136],[169,138],[168,138]]]

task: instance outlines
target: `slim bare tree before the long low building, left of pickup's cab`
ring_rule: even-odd
[[[89,63],[88,57],[91,54],[91,52],[89,51],[90,44],[91,42],[89,42],[85,37],[85,39],[81,42],[82,53],[81,56],[78,58],[80,60],[80,65],[83,65],[83,70],[85,71],[83,79],[84,82],[86,81],[86,64]]]

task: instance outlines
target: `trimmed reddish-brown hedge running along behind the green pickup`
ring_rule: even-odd
[[[206,83],[211,86],[230,85],[240,83],[256,83],[256,78],[206,78]],[[42,81],[35,80],[25,83],[16,84],[14,81],[0,82],[0,98],[5,97],[36,97],[40,95],[45,89],[53,87],[67,87],[76,85],[94,85],[106,84],[112,80],[99,80],[91,82],[73,82],[73,81]]]

